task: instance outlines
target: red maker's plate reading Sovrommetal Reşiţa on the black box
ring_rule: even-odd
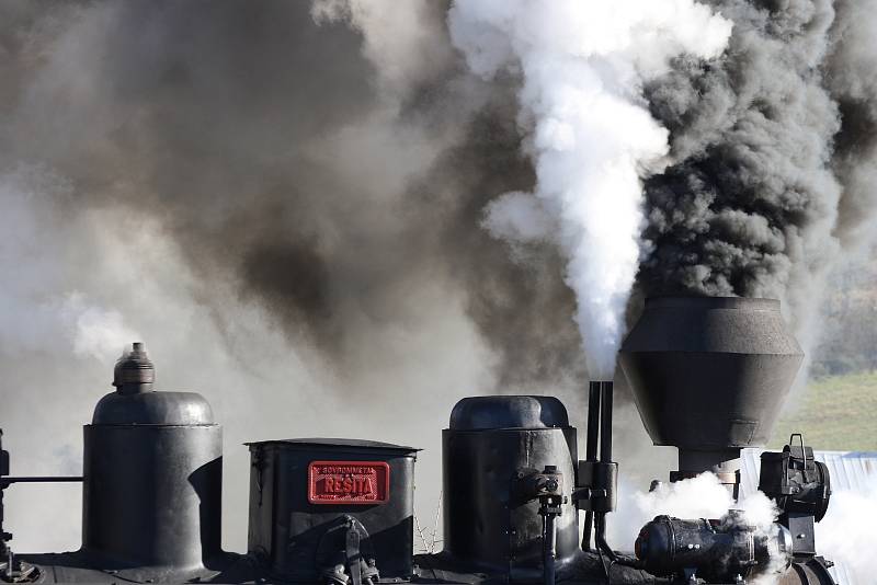
[[[386,461],[311,461],[308,466],[311,504],[380,504],[389,492]]]

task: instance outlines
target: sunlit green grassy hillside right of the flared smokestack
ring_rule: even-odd
[[[770,446],[781,448],[793,432],[816,449],[877,451],[877,372],[811,381],[786,405]]]

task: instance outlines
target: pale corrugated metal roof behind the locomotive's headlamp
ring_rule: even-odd
[[[743,449],[740,466],[741,495],[751,494],[759,489],[761,454],[764,449]],[[831,490],[851,490],[862,494],[869,493],[877,478],[877,452],[869,451],[813,451],[817,461],[825,463],[831,478]],[[829,504],[829,514],[831,505]],[[819,546],[817,544],[817,550]],[[869,585],[862,583],[843,563],[831,569],[832,577],[839,585]]]

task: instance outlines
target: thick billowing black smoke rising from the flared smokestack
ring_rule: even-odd
[[[867,239],[877,202],[874,26],[851,20],[866,2],[706,3],[734,23],[725,55],[680,59],[646,88],[674,164],[646,181],[639,287],[781,298],[809,342],[825,273]]]

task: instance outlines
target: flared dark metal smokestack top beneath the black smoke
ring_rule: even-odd
[[[619,363],[656,445],[767,441],[804,353],[771,299],[646,300]]]

